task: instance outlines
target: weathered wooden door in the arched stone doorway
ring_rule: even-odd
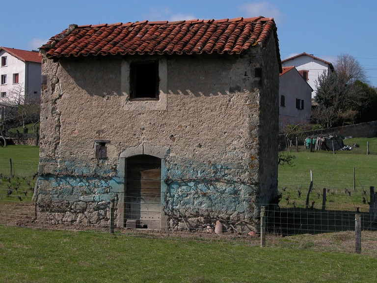
[[[127,159],[126,219],[138,228],[161,228],[161,159],[137,155]],[[129,225],[127,225],[129,226]]]

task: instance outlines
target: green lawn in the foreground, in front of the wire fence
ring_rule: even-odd
[[[377,257],[0,226],[1,282],[374,282]]]

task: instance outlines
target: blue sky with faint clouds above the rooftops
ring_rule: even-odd
[[[300,53],[334,63],[355,57],[377,86],[376,0],[0,0],[0,46],[36,50],[70,24],[264,16],[277,25],[281,59]]]

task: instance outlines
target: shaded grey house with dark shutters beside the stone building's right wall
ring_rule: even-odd
[[[306,124],[312,110],[312,91],[308,76],[295,66],[283,67],[279,76],[279,127]]]

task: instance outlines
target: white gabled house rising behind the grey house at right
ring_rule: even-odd
[[[326,72],[327,74],[334,72],[332,63],[321,58],[314,57],[313,55],[305,52],[282,60],[281,65],[282,67],[296,67],[298,72],[312,87],[312,98],[314,98],[317,94],[316,81],[318,80],[318,76],[323,74],[323,72]]]

